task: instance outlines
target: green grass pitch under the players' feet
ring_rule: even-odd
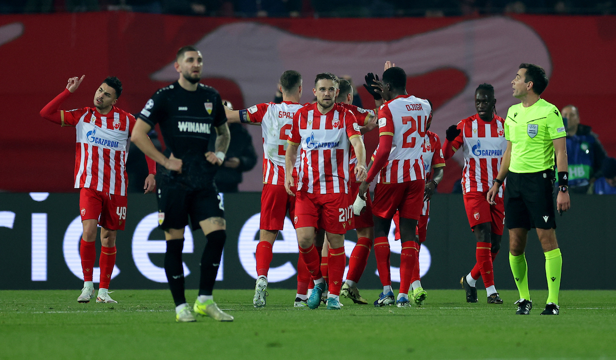
[[[362,290],[374,301],[379,290]],[[463,290],[428,290],[419,308],[375,308],[342,298],[341,311],[293,308],[293,290],[215,290],[234,322],[178,324],[168,290],[118,290],[118,304],[80,304],[78,290],[0,291],[0,359],[616,359],[616,291],[561,291],[559,316],[464,302]],[[484,292],[485,294],[485,292]],[[197,290],[187,290],[189,302]]]

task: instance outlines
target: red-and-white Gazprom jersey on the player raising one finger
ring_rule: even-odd
[[[95,108],[60,110],[62,126],[75,126],[75,188],[126,196],[128,138],[135,118],[113,106],[102,115]]]

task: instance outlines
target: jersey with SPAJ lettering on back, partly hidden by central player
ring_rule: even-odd
[[[249,107],[248,121],[261,124],[263,134],[263,183],[285,185],[285,153],[293,115],[304,105],[292,102],[262,103]],[[299,157],[293,177],[297,177]]]

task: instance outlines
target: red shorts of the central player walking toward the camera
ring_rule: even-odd
[[[349,194],[295,193],[295,228],[312,226],[332,234],[344,234],[354,228],[353,204]]]

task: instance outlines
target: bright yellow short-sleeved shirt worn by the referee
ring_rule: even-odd
[[[566,135],[560,111],[542,98],[527,108],[522,103],[511,106],[505,119],[505,138],[511,142],[509,171],[526,174],[552,169],[552,140]]]

